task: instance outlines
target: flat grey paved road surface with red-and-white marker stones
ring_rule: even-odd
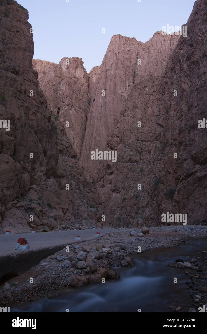
[[[121,229],[124,230],[124,229]],[[70,230],[61,232],[42,232],[42,233],[19,233],[19,234],[0,234],[0,256],[27,251],[16,251],[18,238],[25,238],[29,243],[31,250],[41,248],[53,248],[75,242],[75,237],[80,235],[82,240],[91,240],[96,238],[95,232],[100,232],[100,236],[109,231],[117,231],[115,228],[93,228],[88,230]]]

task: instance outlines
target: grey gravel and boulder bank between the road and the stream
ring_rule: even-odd
[[[141,231],[144,233],[140,234]],[[31,302],[45,296],[51,298],[62,289],[74,289],[76,286],[88,283],[101,284],[103,278],[105,280],[118,279],[119,275],[116,272],[116,267],[133,266],[131,257],[135,254],[139,254],[141,257],[143,252],[150,249],[173,247],[185,244],[190,238],[207,237],[207,226],[151,227],[149,233],[146,232],[148,232],[148,228],[128,229],[126,232],[109,232],[93,240],[68,244],[66,248],[43,259],[29,271],[18,277],[10,278],[7,282],[1,284],[0,306],[8,307],[14,304]],[[138,247],[141,247],[141,249]],[[191,283],[187,285],[189,289],[192,288],[191,285],[194,285],[195,279],[199,280],[199,276],[204,277],[207,283],[207,268],[204,268],[207,264],[205,259],[201,260],[202,272],[199,272],[199,262],[192,260],[190,266],[193,267],[192,264],[195,264],[194,267],[197,267],[197,269],[189,267],[187,271],[189,269],[194,270],[194,274],[184,274],[190,275]],[[174,264],[174,266],[178,265],[182,267],[182,261],[181,264],[179,262]],[[31,283],[32,279],[33,283]],[[206,291],[204,289],[202,291],[199,285],[196,285],[196,288],[202,292],[201,296],[199,297],[199,294],[197,294],[198,297],[193,296],[192,298],[195,297],[194,300],[199,300],[199,298],[202,301],[205,300],[205,296],[203,297],[202,294],[205,295]],[[195,303],[198,304],[198,301],[194,301]]]

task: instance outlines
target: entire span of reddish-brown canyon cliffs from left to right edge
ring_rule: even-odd
[[[187,37],[156,32],[142,43],[114,35],[88,74],[81,58],[33,60],[47,101],[32,69],[28,12],[11,2],[0,6],[0,116],[11,120],[0,142],[3,229],[101,226],[102,214],[104,226],[156,226],[167,211],[206,224],[206,129],[198,129],[206,117],[206,0],[195,3]],[[91,160],[96,149],[117,151],[117,162]]]

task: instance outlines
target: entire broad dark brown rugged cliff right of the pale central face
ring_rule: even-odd
[[[188,36],[171,49],[164,73],[137,75],[108,137],[118,163],[98,167],[98,191],[112,226],[161,225],[167,211],[186,213],[188,224],[207,222],[206,129],[198,129],[206,112],[206,9],[206,1],[195,3]]]

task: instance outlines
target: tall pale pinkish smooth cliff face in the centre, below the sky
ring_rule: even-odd
[[[120,121],[122,108],[134,85],[163,72],[177,35],[157,32],[145,44],[114,35],[101,64],[87,116],[80,164],[97,180],[103,161],[91,160],[91,151],[107,149],[108,136]]]

